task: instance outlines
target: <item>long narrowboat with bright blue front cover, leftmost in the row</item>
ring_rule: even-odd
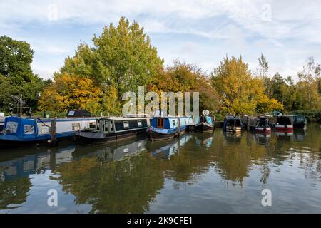
[[[51,118],[7,117],[0,147],[40,144],[51,139]],[[55,118],[56,139],[73,138],[76,131],[94,128],[96,118]]]

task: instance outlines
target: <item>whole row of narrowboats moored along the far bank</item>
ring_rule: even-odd
[[[293,128],[306,128],[307,124],[302,115],[227,115],[225,120],[218,124],[209,114],[208,111],[203,111],[195,122],[192,117],[163,116],[161,113],[153,118],[146,114],[97,118],[82,110],[70,111],[66,118],[9,116],[2,118],[0,145],[10,147],[53,143],[66,138],[74,138],[79,144],[93,144],[143,134],[146,134],[148,140],[168,140],[184,134],[187,130],[210,133],[215,129],[215,125],[221,125],[226,133],[240,134],[242,130],[255,130],[269,134],[271,128],[291,132]]]

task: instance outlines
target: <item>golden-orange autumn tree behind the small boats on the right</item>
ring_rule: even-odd
[[[220,95],[223,113],[254,114],[282,108],[277,100],[267,98],[263,81],[252,77],[242,57],[224,58],[211,78]]]

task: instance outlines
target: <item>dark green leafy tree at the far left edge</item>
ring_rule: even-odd
[[[0,36],[0,110],[16,108],[14,95],[22,95],[24,106],[36,109],[39,91],[49,85],[31,71],[34,51],[29,43]]]

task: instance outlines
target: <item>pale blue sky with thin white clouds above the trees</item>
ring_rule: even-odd
[[[138,21],[165,65],[179,58],[210,73],[222,58],[242,55],[250,69],[263,53],[270,75],[295,76],[309,56],[321,62],[320,1],[0,0],[0,36],[34,49],[32,68],[51,78],[80,41],[92,44],[121,16]]]

